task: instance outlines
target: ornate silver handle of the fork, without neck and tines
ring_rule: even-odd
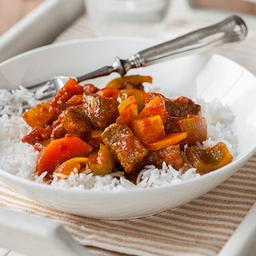
[[[246,23],[242,18],[233,15],[213,26],[195,30],[168,42],[142,50],[138,54],[131,55],[125,61],[130,64],[126,63],[126,71],[131,68],[162,62],[166,58],[209,50],[222,43],[240,41],[246,37],[246,34]]]

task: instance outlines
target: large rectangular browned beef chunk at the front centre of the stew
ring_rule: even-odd
[[[102,139],[126,173],[136,170],[148,153],[125,124],[113,123],[108,126],[102,133]]]

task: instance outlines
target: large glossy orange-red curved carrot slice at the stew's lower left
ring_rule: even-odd
[[[93,147],[83,142],[81,138],[66,137],[55,139],[38,154],[38,175],[47,171],[52,173],[62,162],[70,158],[86,157]]]

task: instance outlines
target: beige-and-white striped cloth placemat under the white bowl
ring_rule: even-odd
[[[170,30],[176,35],[190,30],[192,26],[195,28],[196,25],[176,22]],[[162,33],[162,38],[166,38],[165,33]],[[57,42],[88,37],[94,37],[94,31],[84,16]],[[251,58],[256,53],[255,39],[256,32],[251,32],[245,42],[226,46],[220,51],[256,74],[256,58]],[[222,249],[254,202],[256,154],[241,170],[201,198],[162,214],[125,221],[66,214],[33,202],[0,183],[0,206],[61,223],[78,242],[89,246],[95,255],[213,256]]]

